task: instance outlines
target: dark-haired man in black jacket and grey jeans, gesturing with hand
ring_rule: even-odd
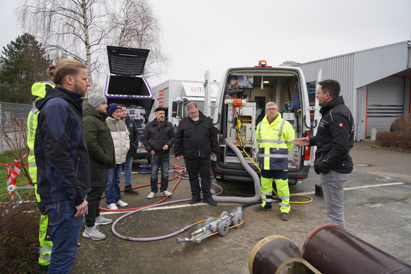
[[[345,228],[344,184],[353,170],[349,151],[354,143],[354,119],[351,111],[339,96],[340,85],[335,80],[318,83],[316,92],[322,106],[316,136],[294,140],[298,146],[317,146],[314,170],[320,175],[324,202],[330,222]]]

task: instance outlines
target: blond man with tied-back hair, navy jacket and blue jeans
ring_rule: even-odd
[[[90,163],[82,121],[82,103],[90,84],[85,65],[61,59],[47,70],[55,88],[35,102],[34,153],[37,192],[46,207],[52,231],[49,274],[69,273],[77,253],[85,195],[90,191]]]

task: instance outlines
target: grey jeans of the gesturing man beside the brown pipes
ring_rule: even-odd
[[[350,174],[330,170],[327,174],[320,173],[320,183],[323,187],[326,212],[330,222],[345,228],[344,221],[344,184]]]

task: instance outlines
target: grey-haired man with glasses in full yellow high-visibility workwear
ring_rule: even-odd
[[[278,113],[277,104],[268,102],[266,116],[257,125],[259,144],[259,167],[261,169],[261,198],[263,203],[254,211],[272,210],[272,179],[277,186],[281,219],[286,221],[290,212],[290,190],[288,188],[288,152],[295,139],[291,124]]]

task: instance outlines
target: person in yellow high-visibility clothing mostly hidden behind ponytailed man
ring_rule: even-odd
[[[49,85],[52,88],[55,87],[55,84],[50,81],[42,81],[34,83],[31,87],[31,93],[34,96],[37,96],[37,99],[42,99],[46,96],[46,86]],[[33,107],[30,113],[28,114],[27,119],[27,145],[30,148],[30,154],[28,156],[28,172],[35,186],[35,193],[37,198],[37,204],[39,210],[42,212],[40,217],[40,229],[39,229],[39,243],[40,243],[40,255],[39,255],[39,265],[42,269],[47,269],[50,264],[50,255],[51,247],[53,243],[51,242],[51,229],[48,228],[48,213],[44,205],[40,204],[40,195],[37,193],[37,166],[34,156],[34,136],[37,128],[37,115],[39,110],[36,107]]]

